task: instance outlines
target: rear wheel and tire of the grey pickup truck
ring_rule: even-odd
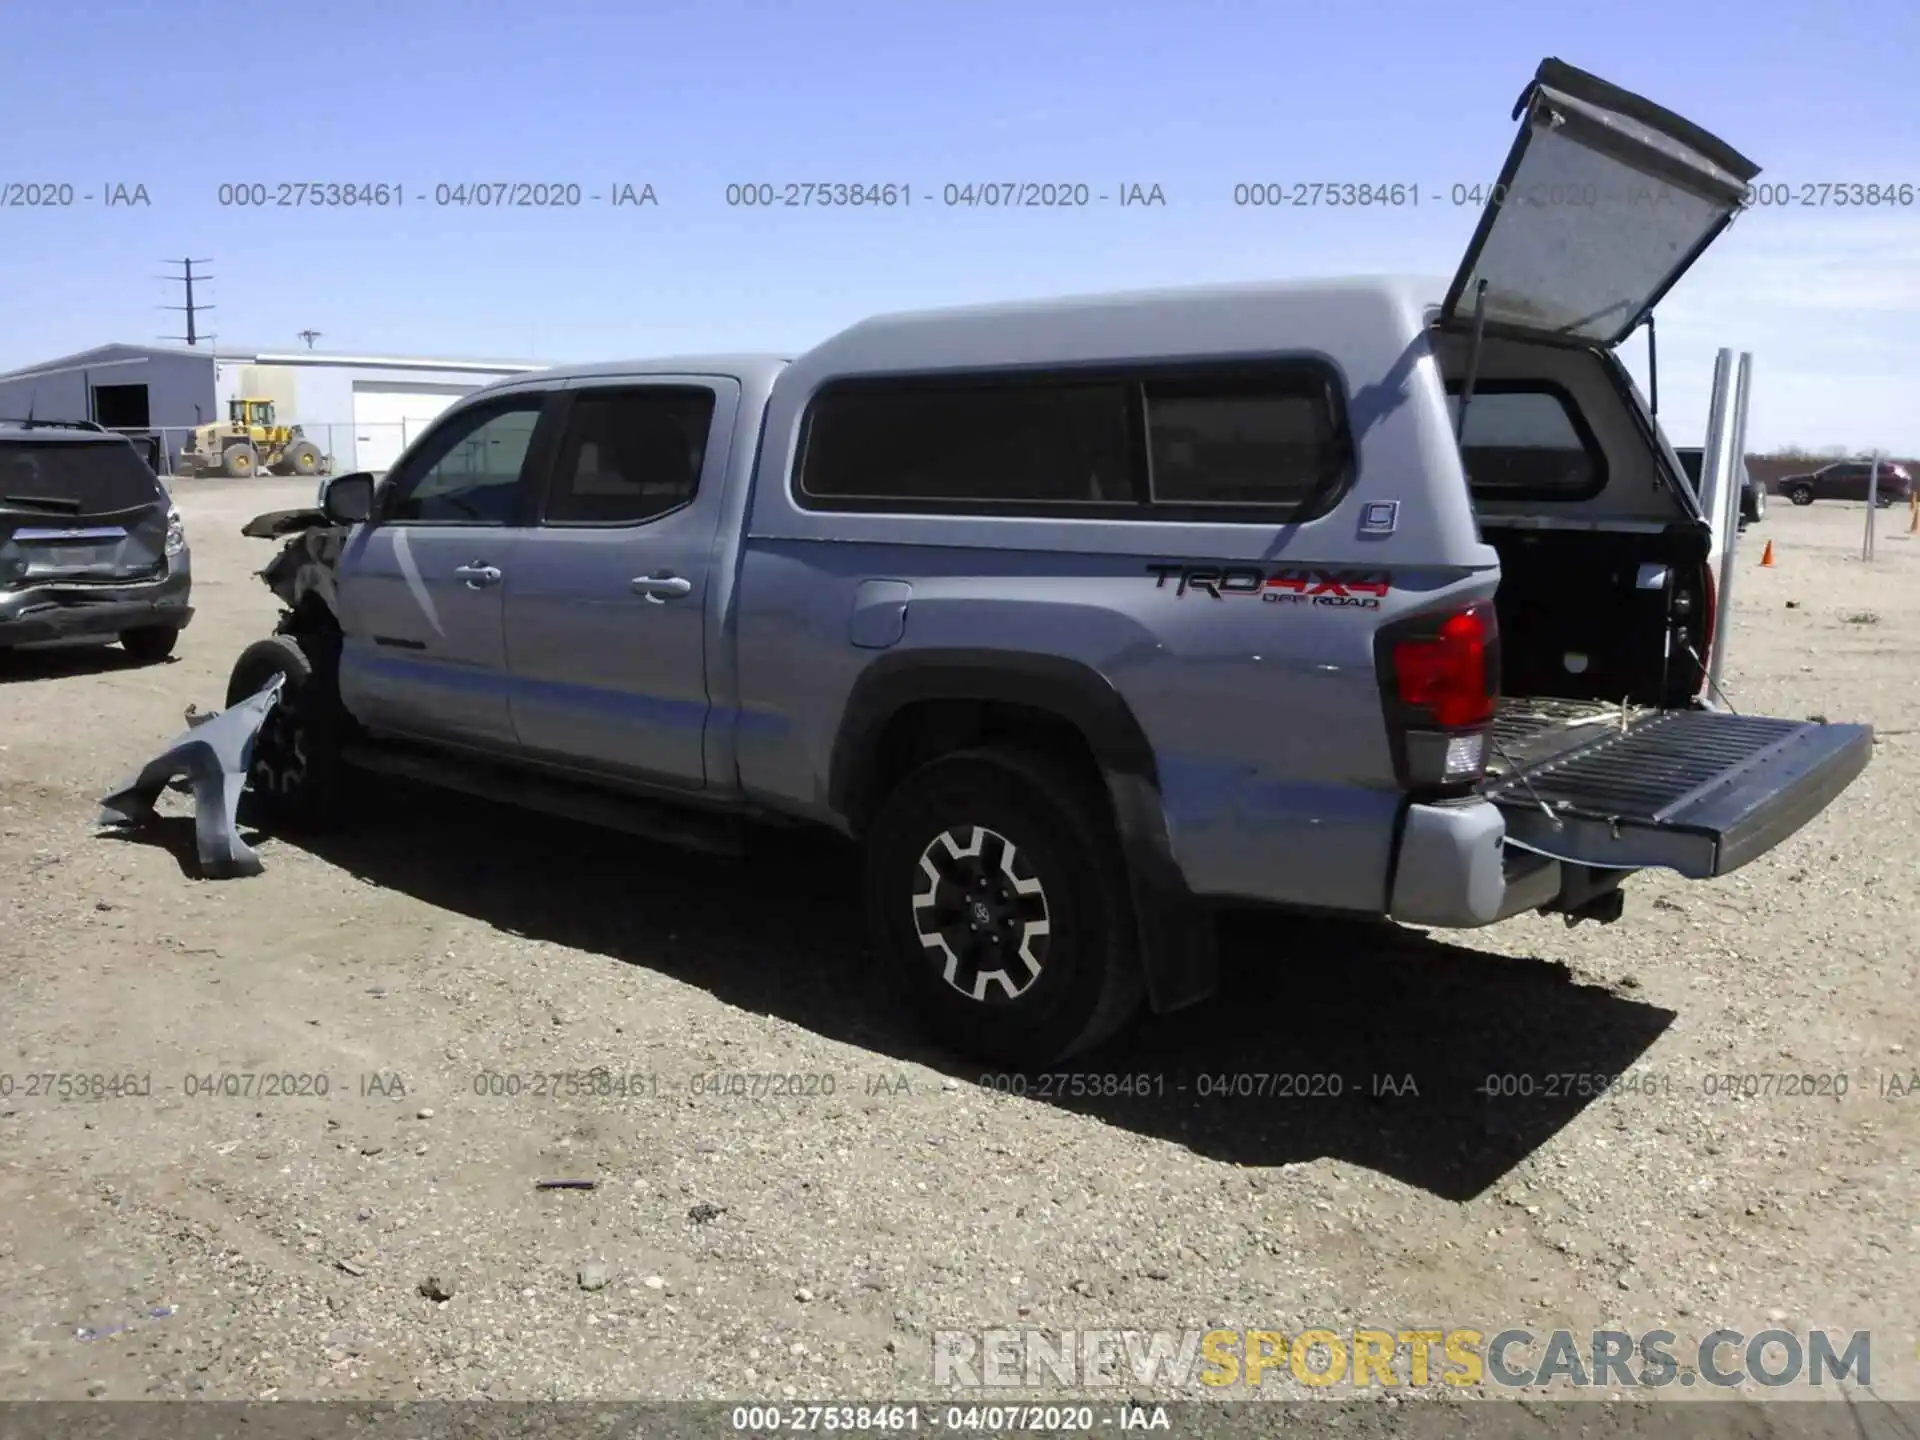
[[[1058,762],[1012,749],[933,760],[887,797],[866,856],[874,950],[952,1050],[1039,1069],[1139,1012],[1119,837],[1102,795]]]

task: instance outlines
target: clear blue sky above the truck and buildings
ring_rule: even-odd
[[[547,361],[804,348],[866,313],[996,298],[1446,275],[1475,209],[1430,198],[1494,177],[1549,54],[1688,113],[1763,180],[1920,186],[1910,0],[38,0],[10,8],[0,50],[0,184],[144,184],[152,204],[0,207],[0,369],[175,334],[159,276],[184,255],[213,261],[223,342],[315,328],[323,349]],[[1158,184],[1165,205],[939,204],[1002,179]],[[1302,179],[1425,198],[1233,204],[1236,182]],[[219,205],[223,182],[298,180],[407,200]],[[499,180],[653,184],[659,205],[432,204]],[[914,204],[726,204],[758,180],[910,182]],[[1755,449],[1920,453],[1916,321],[1920,202],[1755,209],[1661,309],[1663,417],[1690,444],[1734,346],[1755,351]]]

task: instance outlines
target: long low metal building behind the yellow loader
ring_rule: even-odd
[[[31,413],[161,434],[177,465],[188,432],[227,420],[230,401],[271,399],[275,420],[300,424],[344,474],[384,470],[459,396],[541,369],[532,361],[115,344],[0,374],[0,419]]]

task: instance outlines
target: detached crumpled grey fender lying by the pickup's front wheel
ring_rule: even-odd
[[[175,735],[140,774],[100,803],[100,826],[144,826],[154,820],[154,801],[167,781],[184,778],[194,789],[194,841],[200,872],[207,879],[257,876],[259,856],[240,839],[240,791],[253,764],[253,741],[267,712],[280,699],[284,674],[259,691],[215,714],[186,716],[186,732]]]

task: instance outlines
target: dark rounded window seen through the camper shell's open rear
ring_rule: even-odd
[[[1459,392],[1448,396],[1459,426]],[[1549,386],[1476,386],[1461,434],[1467,482],[1482,499],[1592,499],[1607,459],[1572,401]]]

